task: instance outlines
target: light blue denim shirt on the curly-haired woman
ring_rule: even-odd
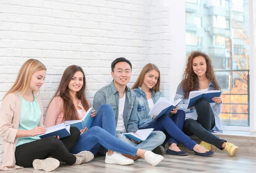
[[[210,90],[214,90],[212,82],[209,81],[209,85],[208,85],[208,91]],[[198,119],[198,115],[196,113],[196,109],[193,108],[192,110],[187,109],[188,107],[188,98],[184,98],[184,91],[183,88],[181,87],[181,83],[179,84],[177,91],[176,91],[176,95],[174,98],[174,101],[176,101],[177,99],[181,99],[182,101],[179,103],[178,105],[178,109],[182,109],[183,111],[185,111],[186,113],[186,119]],[[213,132],[215,133],[222,133],[223,132],[223,128],[222,128],[222,123],[221,123],[221,118],[219,116],[219,114],[221,114],[221,108],[222,108],[222,104],[218,104],[218,103],[210,103],[210,106],[212,108],[212,112],[214,114],[215,117],[215,127],[212,129]]]

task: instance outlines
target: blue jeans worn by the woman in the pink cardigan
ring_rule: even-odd
[[[137,147],[116,138],[116,123],[111,105],[104,104],[99,108],[92,126],[80,135],[70,153],[76,154],[86,150],[96,154],[103,146],[118,153],[136,156]]]

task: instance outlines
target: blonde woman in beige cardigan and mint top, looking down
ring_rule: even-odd
[[[44,84],[45,76],[44,64],[34,59],[27,60],[3,98],[0,137],[3,138],[5,155],[0,170],[33,166],[36,170],[51,171],[59,166],[59,161],[73,165],[93,159],[89,151],[70,154],[54,136],[44,139],[38,136],[46,132],[42,102],[36,94]]]

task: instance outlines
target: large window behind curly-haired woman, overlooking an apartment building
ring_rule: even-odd
[[[186,17],[186,52],[202,50],[212,58],[215,75],[224,94],[225,104],[222,105],[220,114],[223,125],[249,126],[247,124],[249,82],[243,75],[238,74],[244,73],[245,76],[248,74],[240,70],[248,68],[247,57],[250,53],[250,43],[253,42],[249,39],[249,23],[253,19],[250,16],[253,11],[249,11],[250,5],[253,4],[252,0],[201,0],[201,6],[196,6],[196,1],[186,1],[194,2],[194,4],[185,3],[185,12],[189,14],[189,17]],[[195,6],[196,10],[191,11]],[[200,17],[201,20],[195,17]],[[242,85],[239,82],[242,82]],[[239,105],[241,103],[243,105]],[[250,116],[256,117],[256,113],[254,114]]]

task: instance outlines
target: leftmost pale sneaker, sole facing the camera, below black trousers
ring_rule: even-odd
[[[52,171],[60,165],[60,162],[54,158],[47,158],[44,160],[35,159],[33,160],[33,167],[35,170]]]

